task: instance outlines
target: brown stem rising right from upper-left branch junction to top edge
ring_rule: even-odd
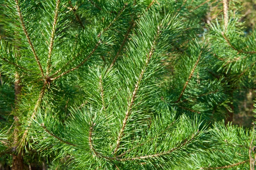
[[[58,20],[58,9],[59,9],[60,3],[61,3],[61,0],[57,0],[56,7],[55,7],[55,12],[54,12],[54,18],[53,18],[53,24],[52,24],[52,34],[51,34],[51,37],[50,37],[50,45],[49,45],[47,69],[46,69],[46,75],[47,76],[49,74],[49,68],[51,66],[51,55],[52,55],[54,35],[55,35],[55,30],[56,30],[56,25],[57,25],[57,20]]]

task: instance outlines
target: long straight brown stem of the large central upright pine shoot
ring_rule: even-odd
[[[120,142],[121,142],[121,138],[122,138],[122,135],[123,135],[123,133],[124,133],[124,130],[125,130],[125,127],[126,127],[128,118],[129,118],[129,116],[130,116],[131,107],[132,107],[133,104],[134,104],[134,100],[135,100],[135,98],[136,98],[136,94],[137,94],[137,91],[138,91],[138,89],[139,89],[140,82],[141,82],[141,80],[142,80],[142,78],[143,78],[144,71],[145,71],[145,69],[147,68],[148,63],[149,63],[149,61],[150,61],[150,59],[151,59],[151,57],[152,57],[152,55],[153,55],[153,53],[154,53],[154,48],[155,48],[155,46],[156,46],[157,38],[158,38],[159,34],[160,34],[160,28],[158,27],[156,39],[154,40],[154,43],[153,43],[153,45],[151,46],[151,49],[150,49],[150,51],[149,51],[149,53],[148,53],[148,55],[147,55],[147,58],[146,58],[146,61],[145,61],[145,66],[144,66],[144,68],[141,70],[140,77],[139,77],[139,79],[138,79],[138,81],[137,81],[137,83],[136,83],[136,85],[135,85],[135,87],[134,87],[134,91],[133,91],[132,96],[131,96],[131,101],[130,101],[130,103],[129,103],[129,105],[128,105],[128,109],[127,109],[127,111],[126,111],[126,113],[125,113],[125,119],[123,120],[122,128],[121,128],[121,130],[120,130],[120,132],[119,132],[119,135],[118,135],[118,138],[117,138],[117,141],[116,141],[116,148],[115,148],[115,150],[114,150],[114,152],[113,152],[113,153],[115,153],[115,156],[116,156],[117,150],[119,149],[119,145],[120,145]]]

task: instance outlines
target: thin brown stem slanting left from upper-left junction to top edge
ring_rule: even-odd
[[[40,71],[41,71],[41,74],[42,74],[42,76],[44,77],[44,79],[46,79],[46,77],[45,77],[45,75],[44,75],[44,70],[42,69],[42,66],[41,66],[41,63],[40,63],[40,61],[39,61],[38,55],[37,55],[36,52],[35,52],[35,48],[34,48],[32,42],[31,42],[30,37],[29,37],[29,34],[28,34],[27,30],[26,30],[26,27],[25,27],[25,24],[24,24],[24,21],[23,21],[23,17],[22,17],[21,11],[20,11],[20,6],[19,6],[18,0],[15,0],[15,3],[16,3],[16,9],[17,9],[18,16],[19,16],[19,18],[20,18],[20,24],[21,24],[21,26],[22,26],[23,32],[25,33],[26,38],[27,38],[27,40],[28,40],[28,42],[29,42],[29,45],[30,45],[30,47],[31,47],[31,50],[32,50],[32,52],[33,52],[33,54],[34,54],[34,56],[35,56],[35,60],[36,60],[36,62],[38,63],[38,66],[39,66],[39,69],[40,69]]]

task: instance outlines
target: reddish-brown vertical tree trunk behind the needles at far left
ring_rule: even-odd
[[[15,129],[13,132],[13,146],[12,146],[12,170],[23,170],[23,157],[21,155],[21,153],[17,152],[17,144],[19,141],[19,118],[17,116],[17,105],[18,105],[18,95],[20,94],[21,91],[21,86],[20,86],[20,76],[16,73],[15,74],[15,110],[14,110],[14,125],[15,125]]]

